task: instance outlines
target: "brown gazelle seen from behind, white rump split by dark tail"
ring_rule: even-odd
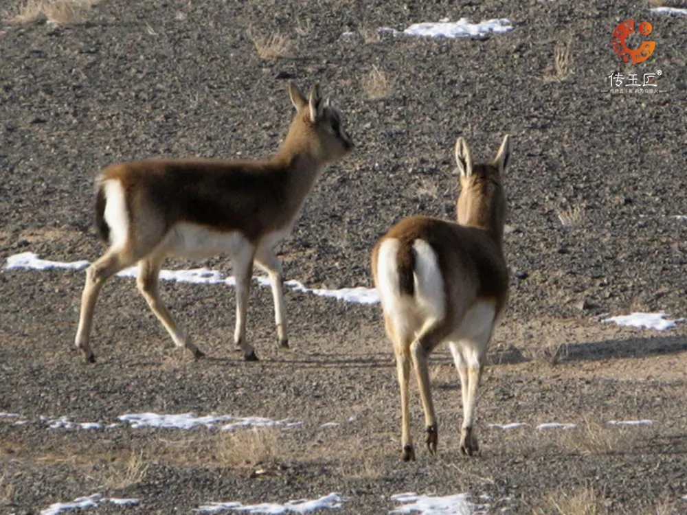
[[[458,138],[458,223],[427,216],[405,218],[372,251],[372,275],[396,354],[405,461],[415,459],[408,406],[411,361],[425,411],[425,441],[429,452],[436,454],[438,433],[427,358],[443,341],[449,343],[460,374],[460,449],[467,455],[478,450],[473,433],[477,387],[486,347],[508,300],[502,174],[509,159],[508,135],[492,163],[475,165],[465,140]]]

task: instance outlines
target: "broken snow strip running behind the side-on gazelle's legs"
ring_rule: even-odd
[[[75,262],[59,262],[41,260],[38,255],[32,252],[25,252],[21,254],[11,255],[7,258],[5,268],[26,268],[32,270],[47,270],[49,268],[69,268],[72,270],[80,270],[89,265],[87,261]],[[138,268],[130,266],[117,273],[118,277],[137,277]],[[235,286],[236,279],[234,277],[225,277],[221,272],[208,270],[207,268],[191,268],[190,270],[161,270],[160,279],[164,281],[188,282],[192,284],[227,284],[227,286]],[[260,286],[269,287],[269,279],[267,277],[254,277]],[[346,302],[354,302],[357,304],[377,304],[379,296],[375,288],[340,288],[338,290],[327,290],[320,288],[306,288],[302,282],[286,281],[285,286],[292,290],[302,293],[311,293],[320,297],[332,297],[333,299],[342,300]]]

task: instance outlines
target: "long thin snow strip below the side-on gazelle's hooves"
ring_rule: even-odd
[[[158,413],[126,413],[119,420],[128,422],[132,428],[156,427],[164,429],[192,429],[196,426],[214,427],[218,424],[222,431],[234,431],[237,428],[262,428],[274,426],[292,426],[302,422],[290,422],[289,419],[272,420],[264,417],[234,417],[233,415],[205,415],[196,417],[195,413],[178,413],[173,415]],[[225,422],[229,422],[225,424]]]

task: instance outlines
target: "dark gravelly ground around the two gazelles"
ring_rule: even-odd
[[[512,295],[495,334],[478,405],[482,455],[458,451],[460,388],[449,354],[431,360],[439,417],[436,459],[399,455],[398,391],[378,306],[289,290],[291,351],[278,350],[269,290],[254,288],[249,337],[259,363],[232,349],[234,294],[170,284],[164,297],[210,356],[172,348],[131,279],[98,304],[85,365],[72,346],[83,274],[0,272],[0,512],[37,513],[102,492],[138,507],[91,512],[190,512],[208,501],[285,502],[340,492],[341,512],[378,514],[392,494],[470,493],[486,508],[557,513],[687,511],[687,329],[601,323],[605,314],[682,317],[687,221],[687,17],[646,2],[487,0],[102,0],[86,23],[0,24],[0,259],[102,252],[93,177],[144,157],[265,157],[291,116],[286,80],[313,82],[341,108],[357,144],[319,179],[280,246],[287,279],[311,288],[371,286],[376,238],[408,214],[452,218],[452,148],[476,159],[513,135],[506,255]],[[484,40],[383,34],[411,23],[507,18]],[[609,39],[633,17],[653,23],[654,56],[620,65]],[[247,37],[280,31],[289,56],[263,60]],[[352,36],[342,36],[353,32]],[[363,34],[365,37],[363,37]],[[554,48],[572,38],[572,75],[550,80]],[[373,65],[393,83],[369,100]],[[612,71],[662,70],[666,93],[600,93]],[[578,213],[564,226],[559,214]],[[230,271],[224,258],[195,263]],[[168,267],[189,266],[168,262]],[[50,430],[40,417],[116,422],[122,413],[226,413],[303,422],[289,431],[162,431],[126,426]],[[412,396],[413,431],[422,414]],[[609,420],[655,420],[614,427]],[[338,426],[322,428],[326,422]],[[523,422],[504,431],[488,424]],[[574,431],[537,431],[572,422]],[[243,438],[243,439],[242,439]],[[538,511],[541,510],[541,511]],[[565,511],[564,511],[565,512]],[[565,512],[567,513],[567,512]],[[583,513],[583,512],[575,512]]]

